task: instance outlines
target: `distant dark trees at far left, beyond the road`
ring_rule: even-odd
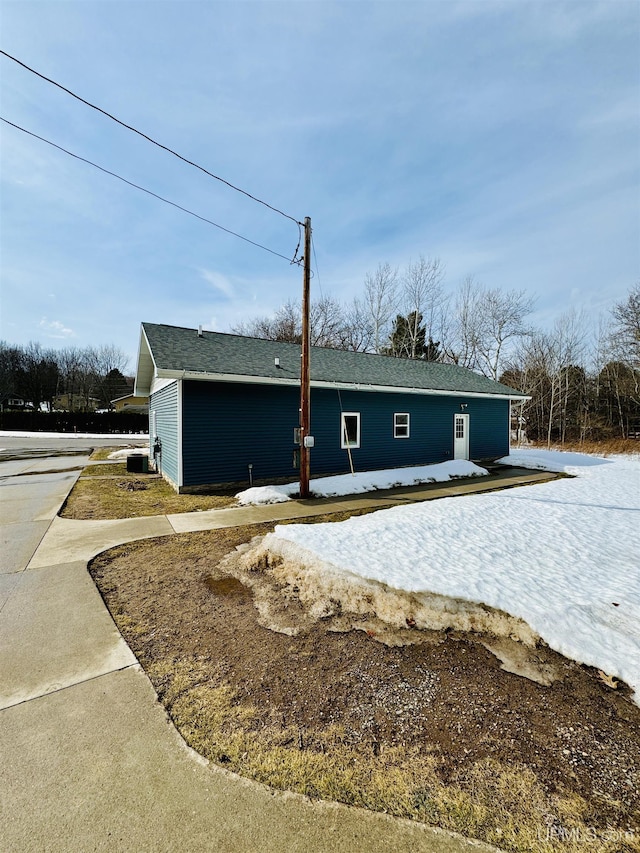
[[[111,401],[130,394],[123,371],[127,356],[115,346],[45,349],[39,343],[13,346],[0,341],[0,407],[12,399],[31,408],[53,411],[64,397],[69,411],[109,409]]]

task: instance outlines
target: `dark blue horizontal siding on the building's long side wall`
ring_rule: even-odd
[[[155,397],[155,395],[154,395]],[[311,474],[349,470],[340,447],[340,412],[359,412],[360,447],[352,448],[356,470],[400,467],[453,459],[454,414],[469,415],[470,456],[483,459],[509,452],[509,401],[488,398],[312,389]],[[176,404],[177,405],[177,404]],[[293,430],[298,425],[295,387],[187,381],[183,392],[184,485],[295,480]],[[393,415],[410,415],[409,438],[393,435]],[[164,449],[164,438],[163,438]]]

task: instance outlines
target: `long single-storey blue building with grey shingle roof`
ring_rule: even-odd
[[[135,394],[179,492],[298,476],[300,346],[143,323]],[[487,461],[524,394],[453,364],[311,348],[311,476]]]

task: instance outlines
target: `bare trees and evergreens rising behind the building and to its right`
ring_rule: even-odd
[[[535,299],[525,291],[468,277],[451,294],[444,276],[437,258],[402,270],[379,264],[350,303],[312,302],[312,345],[459,364],[502,381],[531,396],[519,418],[534,441],[640,435],[640,282],[594,332],[576,311],[551,330],[535,328]],[[300,305],[287,302],[232,331],[299,343]]]

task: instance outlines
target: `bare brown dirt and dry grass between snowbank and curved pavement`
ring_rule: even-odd
[[[195,749],[275,787],[507,850],[640,850],[640,709],[624,685],[544,645],[523,660],[483,634],[309,618],[291,587],[279,607],[293,630],[271,630],[257,605],[273,605],[273,579],[267,592],[222,562],[269,529],[147,540],[91,565]]]

